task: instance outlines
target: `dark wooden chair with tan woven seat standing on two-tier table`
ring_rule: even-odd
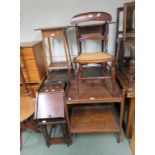
[[[112,20],[110,14],[106,12],[87,12],[78,14],[71,19],[71,24],[76,26],[76,38],[78,46],[78,56],[74,58],[75,77],[79,90],[79,80],[86,79],[112,79],[112,93],[114,95],[115,86],[115,57],[106,53],[108,45],[108,22]],[[81,25],[83,23],[100,22],[99,24]],[[101,51],[94,53],[82,53],[81,42],[85,40],[101,41]],[[112,66],[107,62],[112,62]],[[111,70],[110,76],[84,77],[83,66],[87,64],[102,64],[106,69]],[[79,65],[79,68],[77,67]]]

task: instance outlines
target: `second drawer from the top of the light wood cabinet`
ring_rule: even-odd
[[[37,71],[37,65],[35,60],[20,60],[20,65],[24,71]]]

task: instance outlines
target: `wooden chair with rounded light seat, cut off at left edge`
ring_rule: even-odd
[[[30,96],[21,67],[20,67],[20,77],[24,88],[24,94],[25,94],[25,96],[20,96],[20,149],[21,149],[22,131],[24,129],[24,123],[27,123],[26,121],[34,114],[35,101],[34,101],[34,98]],[[33,127],[30,126],[30,128],[33,128]]]

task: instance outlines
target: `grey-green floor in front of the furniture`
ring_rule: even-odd
[[[117,143],[116,134],[77,134],[69,147],[65,144],[46,146],[41,133],[23,132],[21,155],[130,155],[129,141],[122,133],[122,142]]]

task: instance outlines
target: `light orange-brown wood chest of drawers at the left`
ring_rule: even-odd
[[[46,75],[42,42],[26,42],[20,45],[20,65],[26,83],[39,83]]]

